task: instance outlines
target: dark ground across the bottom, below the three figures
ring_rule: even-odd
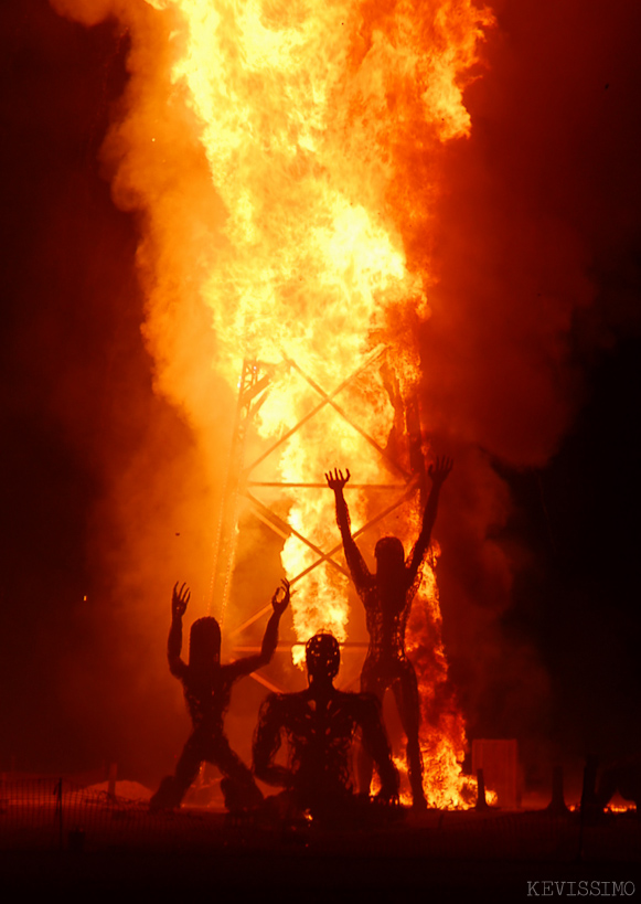
[[[586,893],[637,900],[641,889],[641,829],[630,813],[581,829],[578,815],[432,811],[386,830],[353,832],[229,825],[223,815],[196,810],[154,817],[129,810],[128,820],[129,828],[121,813],[110,829],[87,830],[84,850],[66,832],[58,850],[55,834],[49,850],[24,843],[3,850],[3,889],[64,891],[72,898],[197,891],[224,900],[279,893],[306,901]],[[612,882],[627,883],[624,894],[615,895]]]

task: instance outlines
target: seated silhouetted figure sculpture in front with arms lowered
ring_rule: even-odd
[[[280,786],[298,811],[335,821],[354,812],[351,752],[356,730],[373,757],[381,778],[380,799],[398,795],[398,773],[373,694],[345,693],[333,687],[340,649],[331,634],[317,634],[306,646],[309,687],[299,693],[267,696],[254,737],[254,772],[269,785]],[[287,766],[274,762],[282,734],[289,743]]]

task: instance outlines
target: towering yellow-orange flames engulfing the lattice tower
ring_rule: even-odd
[[[89,15],[82,0],[56,6]],[[366,485],[403,486],[384,454],[398,429],[389,385],[396,402],[407,401],[420,380],[413,327],[429,316],[435,278],[427,249],[410,266],[406,247],[438,191],[425,163],[430,148],[471,128],[462,89],[491,13],[471,0],[102,7],[131,34],[126,109],[106,155],[116,161],[117,200],[145,214],[139,260],[159,386],[206,432],[203,385],[217,379],[232,396],[244,360],[273,365],[257,419],[265,440],[310,412],[312,383],[328,395],[343,386],[334,401],[349,419],[325,405],[258,476],[313,485],[331,467],[349,467],[361,487],[349,498],[357,530],[384,508]],[[418,156],[426,180],[417,191],[407,172]],[[394,442],[407,472],[407,453]],[[269,492],[267,501],[284,490]],[[287,508],[313,546],[336,546],[331,492],[300,491]],[[394,532],[408,551],[416,496],[404,512]],[[290,578],[313,564],[312,545],[287,539]],[[432,806],[464,806],[464,725],[442,693],[436,557],[414,604],[408,649],[421,689],[426,796]],[[340,571],[307,573],[292,602],[299,640],[320,628],[346,640],[346,599]]]

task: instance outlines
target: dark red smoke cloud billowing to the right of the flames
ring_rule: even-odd
[[[626,3],[495,12],[489,68],[466,93],[472,134],[440,161],[440,268],[421,351],[427,422],[458,458],[438,529],[453,672],[472,733],[523,736],[548,732],[551,688],[538,653],[499,627],[515,575],[535,581],[536,563],[501,531],[511,501],[492,465],[549,461],[584,397],[587,345],[633,322],[609,270],[639,227],[627,114],[639,17]]]

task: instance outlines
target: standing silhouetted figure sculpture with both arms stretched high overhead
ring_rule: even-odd
[[[375,694],[381,702],[391,688],[396,700],[403,730],[407,736],[407,765],[414,806],[427,806],[423,791],[423,758],[418,743],[420,719],[418,682],[414,666],[405,651],[405,628],[412,603],[420,584],[420,567],[429,547],[431,530],[436,521],[441,487],[452,469],[451,458],[437,458],[428,475],[431,490],[423,515],[423,527],[416,545],[405,562],[403,543],[396,536],[384,536],[375,546],[376,573],[365,564],[350,530],[350,513],[343,496],[343,487],[350,471],[343,477],[335,469],[325,474],[329,487],[334,491],[336,520],[341,530],[348,567],[359,596],[365,607],[370,647],[361,672],[361,691]],[[359,758],[360,790],[368,791],[372,763],[364,751]]]

